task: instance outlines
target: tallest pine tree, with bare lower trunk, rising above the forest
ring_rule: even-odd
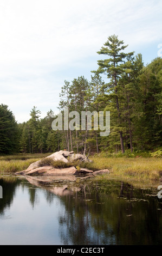
[[[131,53],[124,53],[123,51],[127,47],[124,45],[123,41],[118,39],[118,36],[112,35],[108,37],[108,40],[105,42],[104,46],[101,47],[101,50],[98,51],[98,54],[103,54],[109,56],[109,59],[98,60],[99,73],[105,72],[107,77],[110,78],[110,82],[108,83],[109,93],[112,94],[112,100],[115,100],[116,109],[118,112],[118,125],[119,125],[119,135],[120,135],[120,144],[122,153],[125,152],[124,148],[124,138],[123,138],[123,129],[122,129],[122,117],[121,117],[121,109],[120,109],[120,94],[119,94],[119,78],[122,73],[125,71],[126,66],[124,65],[125,58],[129,55],[132,56]]]

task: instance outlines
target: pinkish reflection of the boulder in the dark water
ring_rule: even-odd
[[[68,188],[68,185],[51,185],[53,182],[60,181],[60,176],[55,177],[33,177],[33,176],[26,176],[26,179],[30,182],[30,184],[38,187],[44,187],[46,190],[50,191],[51,193],[54,193],[58,196],[64,196],[67,194],[73,194],[76,191],[80,191],[81,188],[79,187],[70,187]],[[62,181],[75,181],[75,176],[62,176]]]

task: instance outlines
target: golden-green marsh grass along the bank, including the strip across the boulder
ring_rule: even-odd
[[[24,169],[40,159],[40,166],[52,165],[55,168],[75,166],[91,170],[109,169],[110,174],[99,175],[97,179],[120,179],[134,180],[137,182],[158,181],[162,174],[161,157],[103,157],[101,155],[90,157],[93,162],[71,162],[51,161],[43,159],[50,154],[18,154],[13,156],[0,156],[0,173],[15,173]]]

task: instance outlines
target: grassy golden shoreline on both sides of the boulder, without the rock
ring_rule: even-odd
[[[32,157],[32,155],[31,155]],[[87,168],[108,169],[109,174],[100,174],[93,179],[115,179],[127,182],[135,187],[158,187],[162,184],[162,159],[159,157],[89,157],[93,162]],[[0,175],[13,175],[26,169],[36,158],[25,160],[1,160]]]

